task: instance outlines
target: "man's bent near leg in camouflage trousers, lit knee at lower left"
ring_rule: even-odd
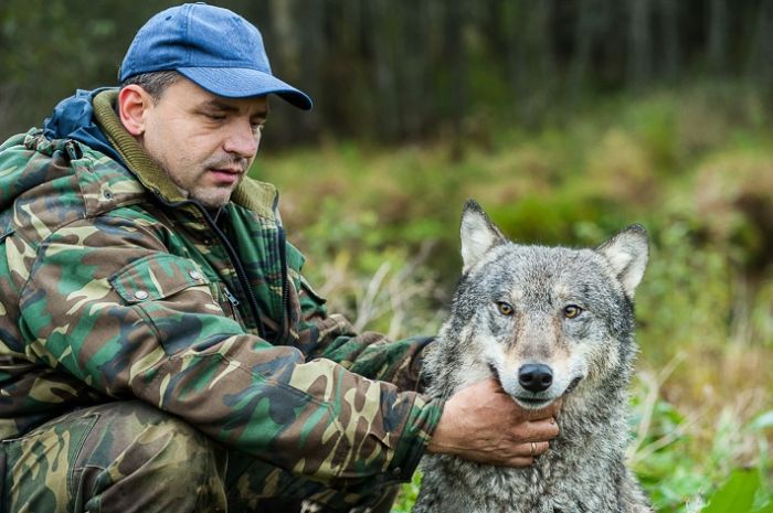
[[[2,511],[9,513],[226,507],[227,452],[138,400],[73,412],[3,446],[9,461]]]

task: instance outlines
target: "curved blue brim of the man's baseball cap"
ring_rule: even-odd
[[[225,98],[277,95],[292,105],[309,110],[311,98],[267,73],[246,67],[179,67],[177,71],[203,89]]]

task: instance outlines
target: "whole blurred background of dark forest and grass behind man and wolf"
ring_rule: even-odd
[[[660,512],[773,511],[773,2],[214,3],[315,99],[273,101],[252,173],[283,191],[332,309],[436,330],[467,197],[525,243],[592,246],[640,222],[631,464]],[[0,138],[115,85],[170,4],[1,0]]]

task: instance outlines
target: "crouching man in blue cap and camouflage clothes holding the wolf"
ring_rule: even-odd
[[[0,147],[3,511],[389,511],[425,450],[527,466],[558,434],[493,381],[416,392],[430,342],[357,335],[245,177],[274,77],[202,3],[140,29],[121,87]]]

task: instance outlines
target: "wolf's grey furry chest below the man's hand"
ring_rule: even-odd
[[[571,415],[563,420],[570,420]],[[506,469],[427,455],[414,513],[583,513],[621,511],[625,480],[620,448],[610,432],[568,429],[523,469]],[[431,504],[434,503],[434,504]]]

